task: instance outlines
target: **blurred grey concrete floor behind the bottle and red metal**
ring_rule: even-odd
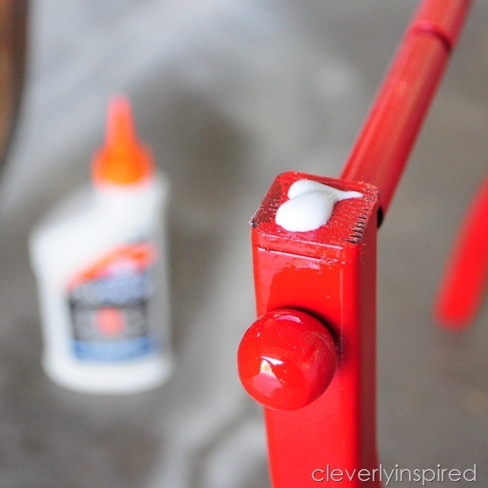
[[[268,486],[261,411],[235,367],[254,319],[247,222],[275,174],[339,174],[415,4],[31,3],[22,113],[1,182],[2,488]],[[477,464],[479,486],[488,310],[457,334],[436,328],[429,308],[487,168],[487,16],[488,3],[475,3],[381,228],[378,273],[381,462]],[[116,91],[130,96],[171,181],[177,368],[158,390],[114,398],[63,390],[41,371],[26,239],[86,181]]]

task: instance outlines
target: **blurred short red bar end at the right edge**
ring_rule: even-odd
[[[462,329],[473,321],[488,277],[488,176],[468,206],[436,299],[434,319]]]

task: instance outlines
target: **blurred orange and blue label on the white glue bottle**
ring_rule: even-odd
[[[155,351],[148,305],[155,247],[124,245],[68,283],[74,354],[85,361],[120,361]]]

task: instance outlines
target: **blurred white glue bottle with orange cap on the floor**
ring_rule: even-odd
[[[128,100],[109,103],[89,188],[31,234],[43,368],[66,388],[130,393],[171,372],[165,280],[167,183],[139,143]]]

